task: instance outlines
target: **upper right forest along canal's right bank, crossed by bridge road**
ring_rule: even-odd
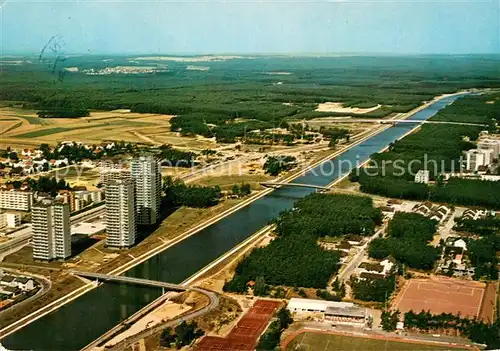
[[[439,111],[431,120],[489,124],[500,118],[499,104],[490,104],[496,95],[467,96]],[[372,156],[367,167],[353,170],[350,180],[360,190],[391,198],[432,200],[459,206],[500,209],[500,183],[475,179],[438,177],[461,172],[463,151],[475,148],[479,132],[487,127],[464,125],[423,125],[407,137],[392,143],[387,152]],[[435,185],[414,183],[417,171],[427,169]]]

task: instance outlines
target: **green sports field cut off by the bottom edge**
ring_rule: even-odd
[[[302,333],[292,340],[285,351],[417,351],[417,350],[450,350],[445,346],[413,344],[397,341],[386,341],[351,337],[344,335]],[[451,350],[466,350],[453,348]]]

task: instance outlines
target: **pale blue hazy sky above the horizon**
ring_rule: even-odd
[[[500,53],[500,0],[0,0],[4,54]]]

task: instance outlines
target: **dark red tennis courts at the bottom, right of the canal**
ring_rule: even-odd
[[[266,328],[279,301],[257,300],[226,338],[205,336],[195,346],[197,351],[252,351]]]

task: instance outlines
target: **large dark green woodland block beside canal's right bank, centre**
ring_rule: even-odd
[[[326,235],[370,235],[381,218],[368,197],[308,195],[297,201],[294,210],[280,214],[277,237],[243,259],[224,290],[244,292],[257,277],[270,285],[325,288],[338,269],[340,255],[322,249],[317,240]]]

